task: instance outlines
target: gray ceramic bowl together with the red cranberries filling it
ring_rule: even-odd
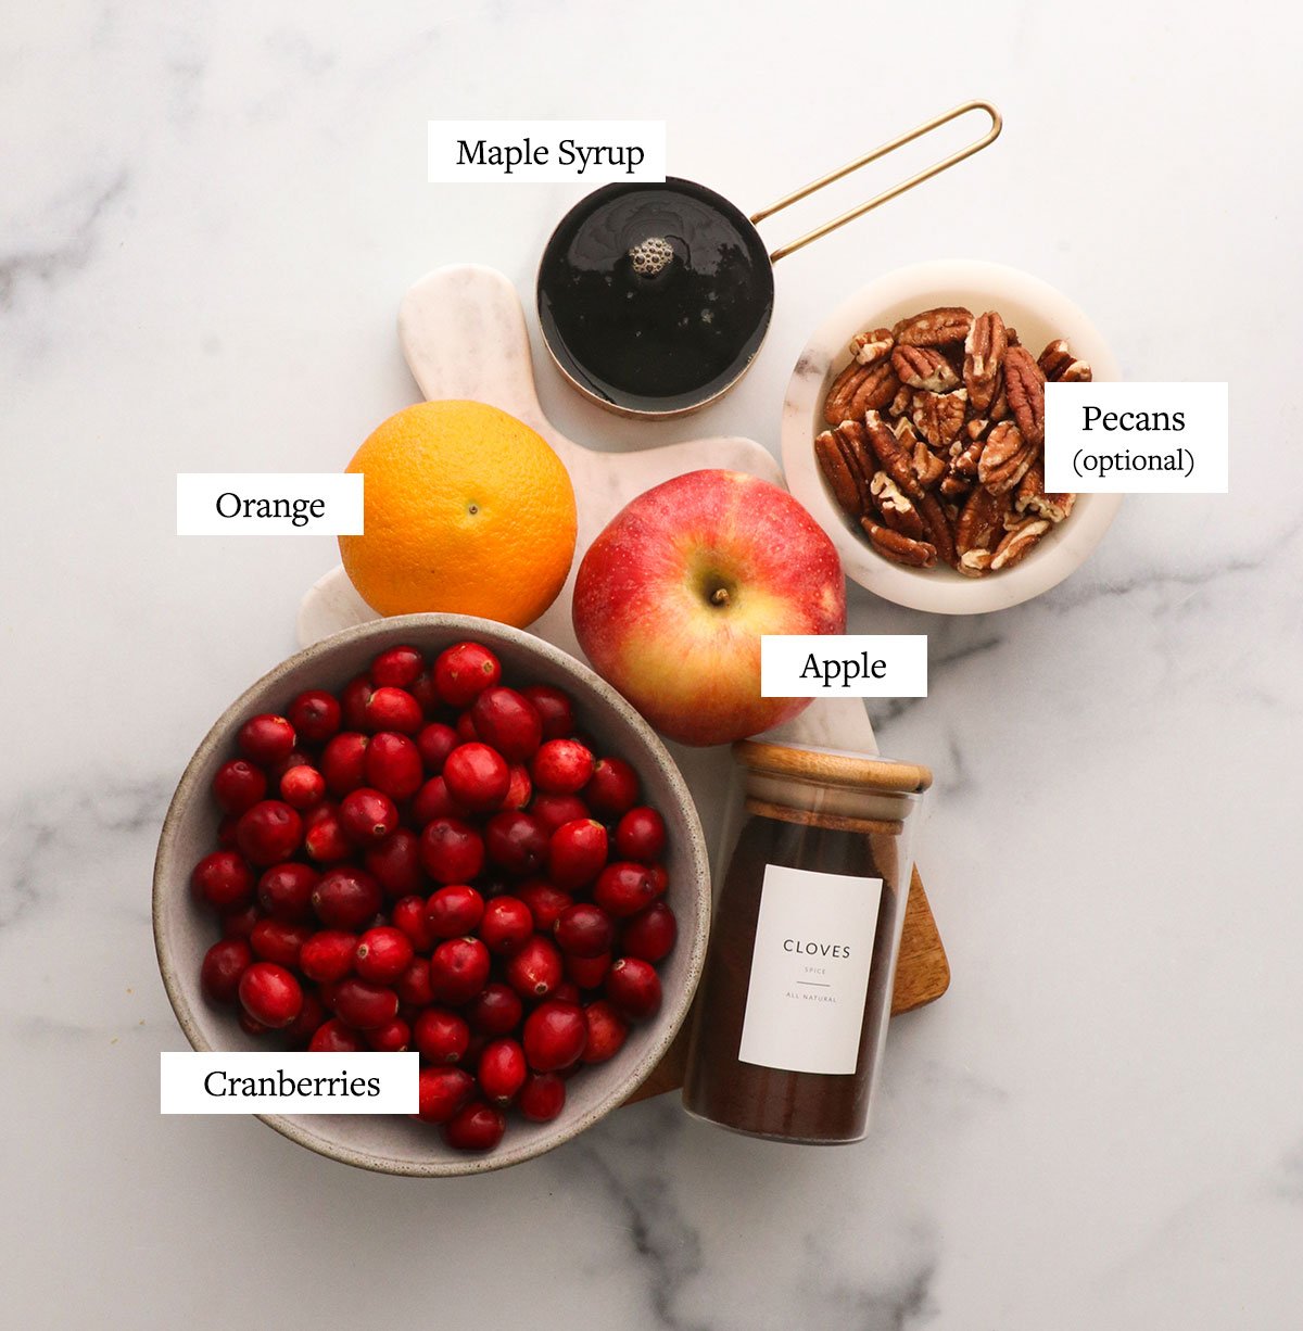
[[[709,873],[673,760],[591,669],[515,628],[407,615],[238,697],[185,769],[154,942],[198,1050],[421,1055],[421,1110],[277,1114],[311,1150],[471,1174],[559,1146],[660,1061]]]

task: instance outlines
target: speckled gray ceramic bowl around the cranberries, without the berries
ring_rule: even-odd
[[[218,811],[209,784],[234,752],[236,731],[257,712],[283,711],[305,688],[343,685],[386,647],[410,643],[430,655],[467,638],[492,648],[510,680],[564,688],[599,751],[618,753],[638,769],[644,797],[660,809],[668,828],[667,900],[679,921],[679,942],[660,966],[664,1004],[656,1018],[635,1026],[611,1062],[584,1069],[567,1085],[566,1109],[554,1122],[526,1123],[511,1115],[507,1135],[488,1155],[450,1150],[438,1129],[402,1117],[258,1115],[310,1150],[389,1174],[478,1174],[516,1165],[568,1141],[620,1105],[656,1066],[683,1024],[701,976],[709,928],[709,869],[692,796],[651,727],[614,688],[559,648],[503,624],[463,615],[382,619],[298,652],[246,689],[208,732],[172,797],[154,862],[154,946],[172,1008],[194,1049],[266,1047],[240,1029],[230,1010],[212,1008],[200,993],[200,962],[217,929],[189,892],[190,869],[216,845]]]

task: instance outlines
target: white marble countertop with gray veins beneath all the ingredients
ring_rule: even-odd
[[[1296,15],[540,12],[0,24],[5,1324],[1296,1326]],[[803,75],[776,80],[780,56]],[[755,208],[970,95],[1000,142],[785,260],[757,365],[709,414],[620,422],[542,375],[575,439],[773,447],[788,370],[852,284],[970,254],[1075,297],[1130,377],[1231,381],[1232,496],[1130,500],[1081,574],[1000,615],[853,595],[854,627],[932,635],[932,696],[873,716],[938,772],[924,862],[954,968],[893,1026],[870,1139],[752,1143],[661,1101],[427,1183],[160,1118],[157,1053],[181,1047],[149,937],[164,804],[334,558],[178,540],[173,476],[342,466],[417,397],[411,281],[474,261],[527,285],[580,193],[431,188],[425,120],[668,117],[673,170]]]

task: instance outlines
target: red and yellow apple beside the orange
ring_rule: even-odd
[[[760,696],[760,636],[845,632],[846,584],[832,540],[785,490],[689,471],[588,547],[574,620],[594,669],[657,731],[727,744],[809,705]]]

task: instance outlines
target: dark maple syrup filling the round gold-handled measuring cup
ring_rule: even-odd
[[[672,257],[638,272],[631,252],[648,248]],[[538,302],[571,378],[616,406],[675,411],[723,391],[755,357],[773,270],[755,228],[713,190],[607,185],[562,218]]]

